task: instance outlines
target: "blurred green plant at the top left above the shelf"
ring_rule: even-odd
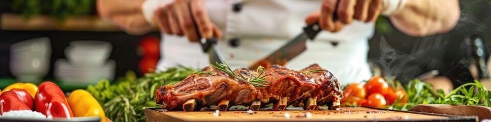
[[[15,0],[9,4],[14,13],[29,19],[34,15],[49,15],[64,20],[73,15],[91,15],[96,9],[95,0]]]

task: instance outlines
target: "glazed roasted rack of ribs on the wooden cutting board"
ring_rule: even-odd
[[[259,110],[273,103],[273,110],[284,110],[287,106],[315,110],[327,105],[328,109],[339,109],[342,96],[338,80],[329,71],[317,64],[295,71],[273,65],[264,69],[267,85],[254,86],[238,80],[221,70],[206,67],[207,74],[191,74],[174,85],[160,86],[155,91],[157,104],[167,110],[199,110],[217,105],[218,110],[227,110],[232,105],[249,106]],[[260,73],[245,68],[234,70],[246,78],[258,77]]]

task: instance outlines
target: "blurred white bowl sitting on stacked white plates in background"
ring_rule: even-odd
[[[108,59],[111,45],[102,41],[72,41],[65,48],[68,59],[57,59],[54,77],[64,82],[96,83],[113,80],[116,63]]]

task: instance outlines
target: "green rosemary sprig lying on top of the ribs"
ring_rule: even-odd
[[[225,72],[226,74],[234,77],[237,80],[249,82],[256,87],[264,87],[267,85],[267,81],[264,80],[266,75],[263,75],[264,74],[264,67],[259,66],[257,68],[256,72],[261,72],[257,77],[251,76],[248,79],[248,78],[245,78],[241,73],[239,73],[239,75],[235,74],[234,71],[230,68],[230,66],[225,61],[224,61],[224,64],[220,64],[220,63],[216,62],[215,65],[212,65],[212,66],[213,66],[213,68],[218,69],[222,72]]]

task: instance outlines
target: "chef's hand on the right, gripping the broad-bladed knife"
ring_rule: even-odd
[[[323,0],[321,10],[308,15],[305,22],[307,24],[319,22],[322,29],[338,32],[344,25],[353,22],[353,19],[373,22],[381,11],[382,0]],[[336,21],[332,21],[334,12],[338,14]]]

